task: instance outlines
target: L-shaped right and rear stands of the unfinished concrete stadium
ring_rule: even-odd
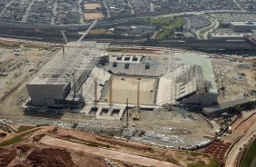
[[[154,105],[203,107],[217,103],[212,64],[206,56],[192,53],[112,55],[106,69],[116,75],[157,77]]]

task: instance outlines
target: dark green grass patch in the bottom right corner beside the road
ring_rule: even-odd
[[[241,158],[241,167],[248,167],[253,162],[256,157],[256,139],[248,146],[247,150],[244,152]]]

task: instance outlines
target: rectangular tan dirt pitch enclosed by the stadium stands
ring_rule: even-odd
[[[113,76],[113,103],[129,103],[137,104],[137,88],[140,82],[140,104],[153,104],[153,91],[155,90],[156,80],[153,78],[143,78],[138,80],[136,77]],[[109,89],[103,99],[109,102]]]

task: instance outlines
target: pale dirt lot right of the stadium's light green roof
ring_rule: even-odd
[[[218,82],[218,88],[222,87],[220,78],[220,70],[223,75],[223,85],[225,87],[224,98],[222,92],[218,99],[220,103],[243,98],[247,94],[249,98],[251,94],[248,91],[255,89],[256,71],[252,70],[251,63],[231,62],[227,59],[211,59],[215,73],[215,79]],[[241,78],[235,79],[236,75],[244,74]]]

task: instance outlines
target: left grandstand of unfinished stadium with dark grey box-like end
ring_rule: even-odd
[[[36,106],[81,108],[83,84],[100,62],[108,44],[69,43],[44,65],[34,81],[26,85],[30,104]],[[86,84],[85,84],[86,85]]]

